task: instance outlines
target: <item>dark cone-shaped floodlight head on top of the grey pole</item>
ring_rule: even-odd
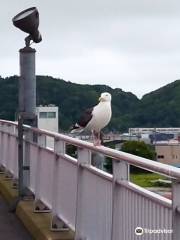
[[[36,7],[28,8],[12,19],[15,27],[21,29],[23,32],[29,34],[27,42],[33,40],[35,43],[39,43],[42,40],[42,36],[38,31],[39,27],[39,12]]]

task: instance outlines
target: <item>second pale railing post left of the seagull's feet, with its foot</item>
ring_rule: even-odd
[[[68,226],[57,216],[57,203],[58,203],[58,179],[59,179],[59,170],[60,170],[60,160],[59,155],[64,155],[66,153],[66,144],[64,141],[59,139],[54,139],[54,152],[55,161],[53,166],[53,189],[52,189],[52,221],[51,221],[51,230],[52,231],[61,231],[69,230]]]

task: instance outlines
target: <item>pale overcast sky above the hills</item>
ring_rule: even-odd
[[[19,74],[25,33],[12,25],[36,6],[43,41],[36,73],[107,84],[138,97],[180,79],[179,0],[1,0],[0,75]]]

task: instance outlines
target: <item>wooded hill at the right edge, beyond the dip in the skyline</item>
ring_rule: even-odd
[[[144,127],[180,127],[180,80],[144,95],[133,121]]]

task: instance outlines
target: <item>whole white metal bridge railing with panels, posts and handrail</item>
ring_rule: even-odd
[[[17,132],[17,123],[0,121],[1,170],[14,180]],[[76,147],[77,158],[67,154],[67,145]],[[92,153],[112,158],[112,175],[91,165]],[[52,230],[68,226],[76,240],[129,240],[139,239],[140,227],[143,240],[180,239],[178,168],[29,126],[24,126],[24,165],[30,166],[26,184],[35,196],[34,211],[52,212]],[[172,178],[172,201],[130,182],[129,165]]]

